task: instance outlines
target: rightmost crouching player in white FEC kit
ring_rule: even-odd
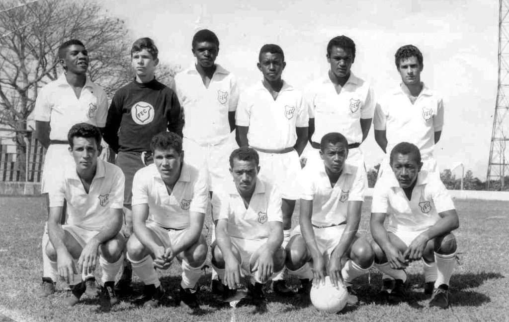
[[[438,177],[420,172],[417,146],[397,144],[390,152],[390,166],[394,175],[376,183],[371,214],[375,266],[394,279],[383,281],[381,294],[392,301],[405,300],[405,268],[422,259],[425,293],[433,294],[430,306],[447,308],[457,247],[451,232],[459,227],[453,201]]]

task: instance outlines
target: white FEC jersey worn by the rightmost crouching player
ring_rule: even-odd
[[[382,176],[373,190],[371,212],[389,215],[390,232],[426,230],[440,219],[440,212],[451,209],[454,203],[442,181],[424,172],[417,176],[410,201],[394,174]]]

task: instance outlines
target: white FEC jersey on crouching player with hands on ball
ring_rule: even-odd
[[[325,165],[305,167],[302,171],[301,199],[313,201],[311,222],[318,227],[346,223],[349,201],[364,201],[365,172],[345,164],[334,187],[325,172]]]

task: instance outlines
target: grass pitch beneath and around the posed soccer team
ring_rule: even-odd
[[[461,265],[451,279],[451,308],[428,308],[429,298],[422,293],[420,263],[408,269],[411,281],[409,303],[387,305],[377,300],[380,274],[356,280],[354,289],[361,305],[348,307],[340,314],[318,312],[309,303],[281,299],[267,289],[268,311],[257,312],[253,306],[235,309],[219,306],[209,293],[210,271],[202,277],[199,311],[180,307],[144,309],[124,299],[110,312],[99,311],[99,302],[82,298],[71,309],[61,306],[63,283],[58,292],[40,299],[35,294],[42,274],[41,236],[46,220],[43,198],[0,197],[0,322],[12,321],[509,321],[509,221],[507,202],[456,200],[460,229],[455,232]],[[369,236],[371,200],[364,203],[360,231]],[[297,214],[297,212],[296,212]],[[298,216],[294,216],[294,222]],[[210,238],[210,233],[209,233]],[[210,256],[210,255],[209,255]],[[371,278],[370,278],[371,277]],[[161,275],[163,286],[178,293],[180,267],[173,265]],[[135,279],[136,281],[136,279]],[[298,281],[291,279],[296,287]],[[142,290],[136,281],[135,291]],[[3,316],[4,315],[4,316]]]

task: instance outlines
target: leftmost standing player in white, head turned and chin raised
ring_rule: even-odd
[[[59,63],[64,69],[60,77],[41,88],[34,108],[36,120],[35,137],[47,148],[42,171],[41,192],[46,194],[51,188],[51,179],[58,177],[67,165],[73,165],[69,155],[67,133],[72,125],[86,122],[99,128],[106,124],[108,100],[106,92],[87,77],[89,67],[88,51],[82,42],[76,39],[66,41],[59,47]],[[66,217],[66,201],[63,204],[63,222]],[[47,242],[47,232],[43,235],[43,244]],[[45,248],[43,253],[43,278],[39,296],[46,297],[54,293],[56,272],[51,271],[47,262]],[[97,292],[95,279],[87,279],[88,293]]]

